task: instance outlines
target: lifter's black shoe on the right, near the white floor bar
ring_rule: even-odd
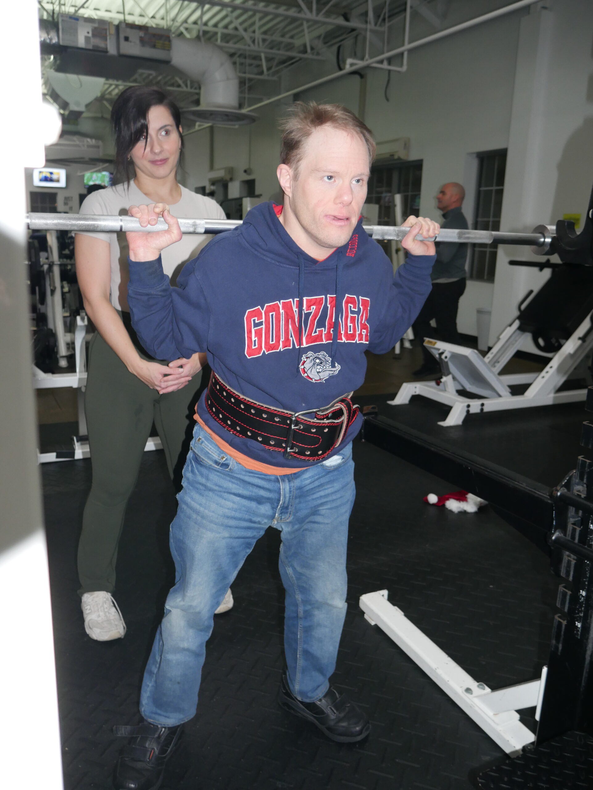
[[[338,743],[354,743],[370,733],[370,721],[362,710],[331,686],[321,699],[301,702],[292,694],[286,677],[283,677],[278,702],[284,710],[315,724],[328,738]]]

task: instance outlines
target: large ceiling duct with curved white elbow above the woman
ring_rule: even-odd
[[[64,112],[81,115],[105,79],[127,81],[139,69],[180,73],[200,85],[198,107],[181,107],[184,119],[215,126],[253,123],[257,116],[238,106],[238,77],[231,58],[216,44],[174,38],[167,30],[113,24],[61,14],[57,23],[43,20],[41,51],[54,55],[47,81],[51,98]],[[165,88],[166,90],[166,88]],[[84,100],[87,98],[86,105]]]

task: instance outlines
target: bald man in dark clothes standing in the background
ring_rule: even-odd
[[[465,190],[461,184],[452,182],[443,184],[437,194],[437,209],[441,211],[444,222],[441,228],[455,228],[467,230],[467,220],[461,210],[464,202]],[[433,289],[420,310],[414,324],[415,337],[422,340],[425,337],[435,337],[447,343],[460,344],[457,332],[457,307],[465,291],[467,272],[465,261],[467,259],[467,244],[437,243],[437,261],[433,265],[430,275]],[[435,333],[430,322],[435,320],[437,332]],[[435,376],[441,368],[437,360],[424,346],[422,346],[422,366],[414,371],[418,378]]]

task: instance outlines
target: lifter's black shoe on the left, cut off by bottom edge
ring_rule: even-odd
[[[179,742],[182,725],[160,727],[144,721],[137,727],[114,727],[114,735],[129,737],[119,755],[113,779],[115,790],[156,790],[163,781],[165,762]]]

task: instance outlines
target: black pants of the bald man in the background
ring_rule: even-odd
[[[460,336],[457,332],[457,307],[464,291],[465,277],[452,283],[433,283],[433,290],[414,322],[414,336],[420,340],[436,336],[438,340],[445,340],[445,343],[460,344]],[[437,324],[436,332],[430,325],[433,318]],[[437,367],[436,359],[424,346],[422,346],[422,355],[425,364]]]

